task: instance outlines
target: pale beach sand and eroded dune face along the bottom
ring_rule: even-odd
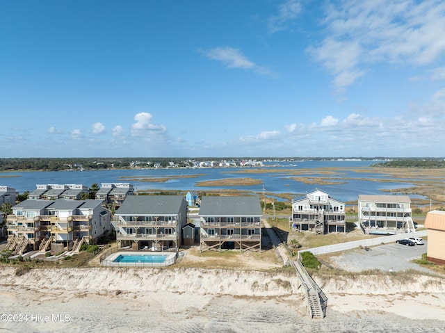
[[[0,332],[445,331],[444,280],[425,275],[317,281],[324,319],[307,316],[291,272],[10,267],[0,281]]]

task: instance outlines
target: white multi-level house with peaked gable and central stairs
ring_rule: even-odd
[[[316,189],[292,200],[292,216],[289,222],[294,232],[346,232],[345,203]]]

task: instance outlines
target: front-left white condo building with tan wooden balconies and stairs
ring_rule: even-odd
[[[7,250],[19,254],[42,250],[61,243],[66,250],[78,250],[81,243],[111,229],[111,213],[100,200],[25,200],[8,215]]]

